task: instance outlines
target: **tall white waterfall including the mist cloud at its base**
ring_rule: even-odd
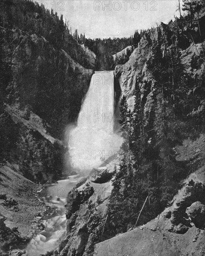
[[[66,131],[72,170],[87,175],[106,160],[112,160],[122,145],[120,132],[114,129],[116,122],[114,72],[95,72],[77,125],[70,124]]]

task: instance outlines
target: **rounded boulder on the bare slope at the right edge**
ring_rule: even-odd
[[[205,227],[205,205],[199,201],[186,208],[186,214],[197,228]]]

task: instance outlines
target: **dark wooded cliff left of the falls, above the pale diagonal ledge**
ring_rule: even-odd
[[[78,64],[64,50],[53,48],[41,36],[22,35],[18,30],[10,36],[19,41],[10,59],[14,101],[30,105],[56,128],[52,134],[59,137],[62,126],[75,121],[93,71]]]

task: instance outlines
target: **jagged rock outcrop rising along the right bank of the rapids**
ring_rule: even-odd
[[[58,247],[60,256],[91,256],[102,237],[111,181],[94,183],[88,178],[70,191],[66,202],[67,235]],[[109,236],[107,237],[109,238]],[[103,239],[106,239],[103,236]],[[55,256],[55,251],[48,253]]]

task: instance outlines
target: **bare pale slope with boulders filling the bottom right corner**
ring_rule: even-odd
[[[191,174],[171,206],[154,220],[96,244],[94,256],[205,255],[204,173],[205,166]]]

